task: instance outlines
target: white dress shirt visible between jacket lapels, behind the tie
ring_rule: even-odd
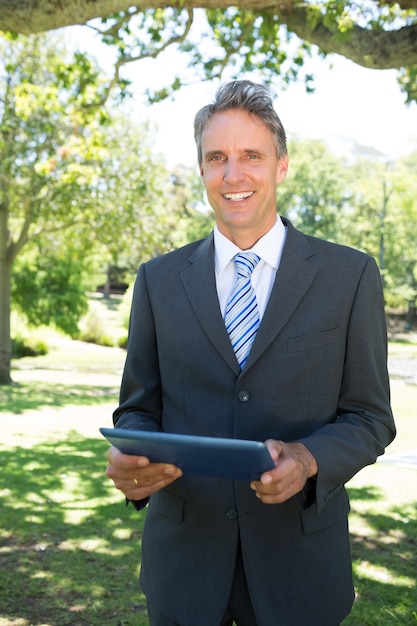
[[[269,296],[275,281],[276,273],[281,261],[287,229],[277,216],[275,225],[266,235],[261,237],[251,252],[260,257],[258,265],[252,273],[252,285],[258,302],[259,317],[265,312]],[[242,252],[227,237],[222,235],[217,226],[214,227],[214,266],[216,270],[216,287],[220,310],[224,317],[226,304],[236,279],[236,268],[233,257]],[[249,252],[245,250],[245,252]]]

